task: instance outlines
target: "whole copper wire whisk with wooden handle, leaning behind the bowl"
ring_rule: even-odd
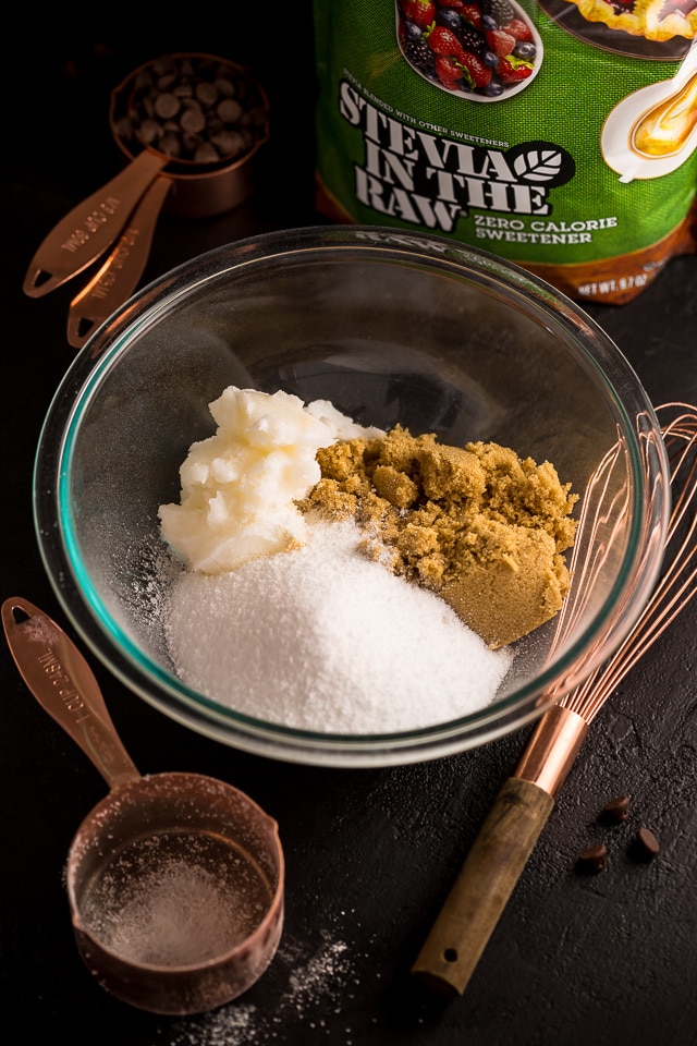
[[[419,980],[445,996],[462,995],[467,986],[591,721],[627,672],[697,594],[697,408],[668,403],[656,414],[670,463],[672,496],[659,580],[636,622],[607,659],[568,692],[562,693],[563,681],[558,684],[557,700],[553,690],[547,693],[547,701],[554,703],[538,721],[515,771],[499,791],[412,968]],[[602,569],[602,549],[608,548],[608,542],[588,544],[588,533],[597,535],[609,519],[622,519],[622,504],[619,512],[608,513],[606,503],[607,497],[628,497],[626,490],[613,491],[611,483],[619,452],[617,446],[606,455],[589,484],[586,519],[582,513],[579,521],[584,537],[570,564],[572,572],[585,574],[579,585],[582,597],[560,615],[552,649],[564,642],[572,623],[584,612],[583,593],[589,592]],[[586,552],[596,545],[600,552],[594,561]],[[609,642],[623,611],[624,606],[617,608],[600,644]]]

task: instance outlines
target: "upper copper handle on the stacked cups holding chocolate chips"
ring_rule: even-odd
[[[53,227],[32,258],[23,290],[42,297],[91,265],[117,239],[166,158],[144,149],[120,174]]]

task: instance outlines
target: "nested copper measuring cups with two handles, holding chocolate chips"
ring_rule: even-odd
[[[244,151],[218,161],[173,158],[122,125],[134,105],[137,85],[163,62],[206,63],[228,70],[248,85],[253,134]],[[138,66],[111,93],[109,123],[126,167],[74,207],[34,254],[23,284],[29,297],[61,287],[109,248],[110,254],[70,304],[68,341],[81,349],[93,331],[136,289],[148,259],[161,210],[182,218],[211,218],[240,206],[254,192],[253,160],[268,141],[268,98],[252,74],[236,62],[198,52],[164,56]]]

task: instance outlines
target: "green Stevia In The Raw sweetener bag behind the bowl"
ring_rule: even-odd
[[[697,248],[697,0],[314,0],[317,207],[622,304]]]

